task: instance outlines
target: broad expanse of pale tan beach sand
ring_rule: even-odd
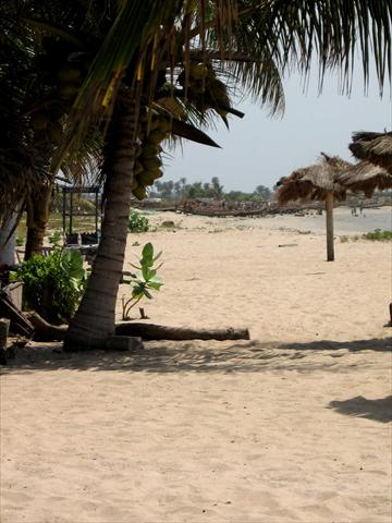
[[[163,252],[149,320],[252,339],[22,353],[1,377],[1,521],[390,523],[392,247],[341,238],[390,212],[336,209],[334,263],[323,217],[148,215],[124,269]]]

